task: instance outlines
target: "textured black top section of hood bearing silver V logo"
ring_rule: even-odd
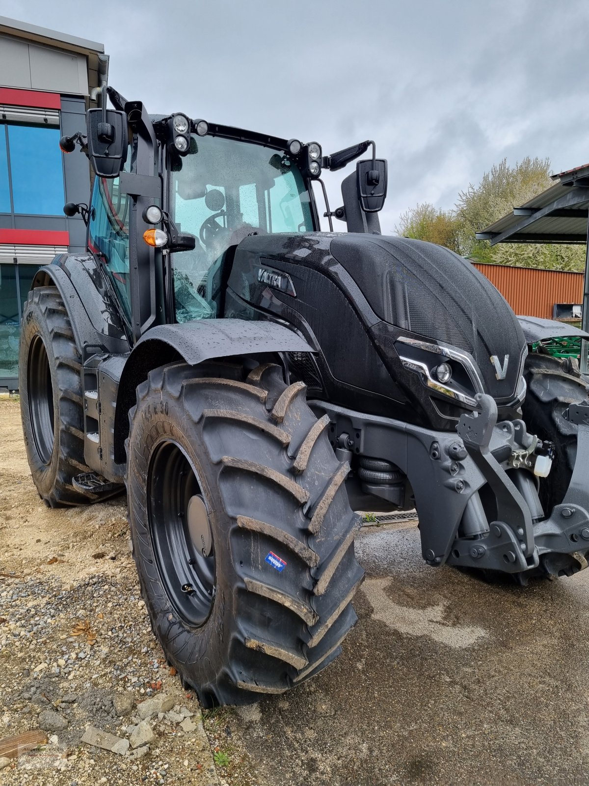
[[[514,397],[525,336],[507,301],[467,259],[432,243],[360,234],[335,237],[330,252],[383,321],[468,352],[485,391],[497,401]]]

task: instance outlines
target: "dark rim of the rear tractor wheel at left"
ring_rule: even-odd
[[[28,409],[37,453],[48,465],[53,456],[53,384],[45,344],[35,336],[28,351]]]

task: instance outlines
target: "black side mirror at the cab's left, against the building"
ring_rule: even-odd
[[[89,109],[86,112],[88,156],[99,178],[116,178],[126,161],[129,140],[125,112]]]

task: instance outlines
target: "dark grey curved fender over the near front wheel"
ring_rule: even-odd
[[[181,325],[157,325],[141,337],[127,360],[119,382],[115,410],[115,460],[125,461],[129,436],[128,413],[135,403],[137,385],[152,369],[184,361],[199,365],[217,358],[242,358],[283,352],[314,352],[294,330],[271,321],[210,319]]]

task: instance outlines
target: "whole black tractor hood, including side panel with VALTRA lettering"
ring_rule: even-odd
[[[518,318],[487,278],[447,248],[360,233],[252,235],[236,248],[229,287],[303,332],[310,328],[331,375],[346,384],[368,385],[377,365],[368,332],[389,367],[406,354],[398,341],[413,337],[470,355],[478,391],[499,405],[522,393],[526,342]],[[393,369],[401,387],[414,378]],[[390,395],[402,399],[399,391]]]

